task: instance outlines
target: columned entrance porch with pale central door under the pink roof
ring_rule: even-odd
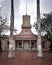
[[[16,40],[18,50],[36,50],[36,40]]]

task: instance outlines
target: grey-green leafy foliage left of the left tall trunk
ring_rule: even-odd
[[[0,37],[1,37],[2,33],[7,30],[9,30],[7,17],[4,19],[2,17],[0,17]]]

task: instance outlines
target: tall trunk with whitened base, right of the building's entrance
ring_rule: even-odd
[[[43,57],[42,46],[41,46],[41,22],[40,22],[40,0],[37,0],[37,31],[38,31],[38,40],[37,40],[37,57]]]

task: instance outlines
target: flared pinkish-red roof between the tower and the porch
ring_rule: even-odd
[[[37,40],[37,35],[31,32],[31,29],[22,29],[21,33],[14,36],[15,40]]]

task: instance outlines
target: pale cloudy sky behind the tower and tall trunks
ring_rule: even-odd
[[[8,22],[10,24],[10,3],[11,0],[0,0],[0,6],[2,7],[2,16],[8,17]],[[21,25],[23,23],[22,16],[26,14],[26,4],[27,4],[27,14],[31,16],[30,24],[33,26],[36,22],[36,0],[14,0],[14,27],[21,31]],[[51,12],[52,11],[52,0],[40,0],[40,13]],[[34,29],[32,29],[35,32]]]

